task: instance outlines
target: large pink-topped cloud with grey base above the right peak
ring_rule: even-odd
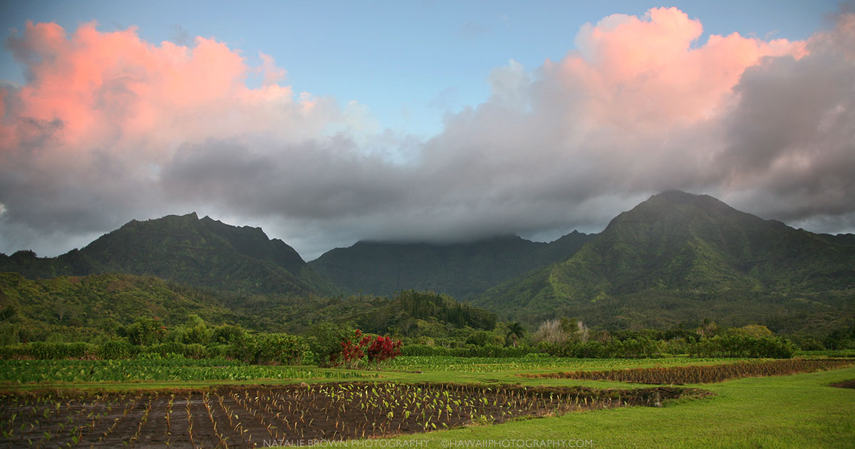
[[[434,176],[462,181],[433,194],[484,214],[540,204],[533,222],[581,222],[593,214],[579,204],[631,198],[604,212],[613,216],[667,189],[734,198],[744,210],[771,209],[767,217],[850,213],[852,200],[832,198],[855,188],[840,175],[855,154],[851,23],[841,16],[806,42],[702,39],[701,23],[678,9],[581,27],[563,59],[530,77],[515,62],[498,68],[488,101],[447,117],[422,160]],[[764,199],[740,199],[749,197]]]

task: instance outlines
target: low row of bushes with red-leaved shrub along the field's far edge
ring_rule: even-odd
[[[755,328],[762,334],[752,334]],[[509,333],[510,334],[510,333]],[[540,333],[539,333],[540,334]],[[119,339],[101,344],[85,342],[32,342],[0,346],[0,358],[19,359],[121,359],[129,357],[181,356],[192,358],[229,357],[245,363],[317,363],[353,368],[375,366],[373,362],[404,356],[440,357],[576,357],[576,358],[651,358],[665,355],[692,357],[775,357],[789,358],[796,346],[787,339],[774,337],[763,327],[726,329],[722,334],[702,337],[682,334],[672,340],[653,340],[657,331],[645,334],[599,334],[600,340],[542,340],[536,346],[492,344],[498,334],[477,331],[464,346],[445,347],[407,345],[392,337],[363,334],[350,325],[320,322],[306,336],[276,333],[250,333],[234,326],[208,327],[196,320],[188,325],[167,328],[151,318],[139,318],[122,329]],[[473,344],[475,337],[487,337]],[[607,339],[604,337],[607,336]],[[474,339],[475,338],[475,339]],[[411,339],[410,339],[411,340]]]

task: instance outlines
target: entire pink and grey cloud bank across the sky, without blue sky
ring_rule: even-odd
[[[6,41],[27,81],[0,87],[0,251],[198,210],[311,258],[356,239],[597,231],[668,189],[855,230],[855,15],[806,41],[702,33],[674,8],[583,25],[562,59],[485,74],[491,96],[422,140],[381,130],[370,98],[299,92],[271,56],[251,67],[215,38],[28,23]]]

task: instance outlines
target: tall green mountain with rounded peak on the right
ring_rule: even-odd
[[[852,246],[716,198],[664,192],[617,216],[573,257],[474,304],[526,321],[563,313],[628,326],[702,316],[765,322],[851,307],[853,291]]]

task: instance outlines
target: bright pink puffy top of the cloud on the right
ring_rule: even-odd
[[[738,33],[711,35],[679,9],[643,17],[610,15],[576,36],[578,53],[547,62],[554,76],[584,92],[591,120],[624,130],[659,133],[710,118],[740,75],[764,56],[805,55],[804,42],[764,41]]]

